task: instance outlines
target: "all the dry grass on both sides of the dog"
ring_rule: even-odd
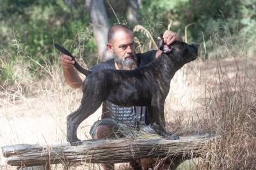
[[[255,169],[255,47],[248,40],[239,42],[215,36],[209,59],[184,66],[171,82],[165,108],[168,129],[179,134],[215,131],[221,136],[205,157],[196,161],[196,169]],[[4,58],[8,54],[1,55]],[[5,66],[8,61],[3,58]],[[29,66],[20,63],[14,66],[15,81],[0,81],[0,146],[66,143],[66,117],[78,107],[81,91],[65,84],[58,63],[45,61],[39,66],[40,79],[31,77]],[[90,138],[88,130],[99,119],[100,111],[79,127],[81,139]],[[0,161],[0,169],[10,169],[2,155]],[[63,169],[63,165],[52,167]],[[78,167],[82,168],[93,166]]]

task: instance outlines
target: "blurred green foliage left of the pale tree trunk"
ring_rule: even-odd
[[[31,63],[31,71],[36,70],[38,63],[44,64],[45,60],[51,62],[58,58],[53,43],[67,43],[67,48],[77,43],[77,33],[83,32],[88,24],[88,15],[84,15],[84,1],[76,1],[70,8],[62,0],[58,1],[1,1],[0,6],[0,39],[1,49],[12,52],[12,58],[7,63],[17,61],[19,58],[19,47],[29,53],[31,58],[22,58],[24,63]],[[84,46],[89,43],[88,48],[93,46],[92,32],[84,40]],[[90,47],[89,47],[90,46]],[[87,52],[96,52],[95,47],[84,49]],[[4,58],[3,55],[0,56]],[[1,68],[2,79],[7,79],[12,72],[12,64]],[[1,66],[3,67],[3,66]]]

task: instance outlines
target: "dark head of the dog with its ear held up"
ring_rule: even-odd
[[[173,42],[171,45],[164,45],[163,40],[160,40],[159,49],[163,50],[172,60],[182,63],[182,65],[189,63],[197,58],[198,45],[184,42]]]

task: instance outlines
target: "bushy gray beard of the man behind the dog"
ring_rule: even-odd
[[[114,54],[114,61],[118,65],[120,70],[133,70],[137,68],[136,56],[133,59],[120,59],[116,54]]]

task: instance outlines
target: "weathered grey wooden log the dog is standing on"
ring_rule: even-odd
[[[42,164],[68,164],[68,162],[120,163],[147,157],[198,157],[216,137],[196,135],[166,140],[150,139],[97,139],[83,141],[79,146],[58,144],[17,144],[3,146],[2,152],[11,166],[36,166]]]

